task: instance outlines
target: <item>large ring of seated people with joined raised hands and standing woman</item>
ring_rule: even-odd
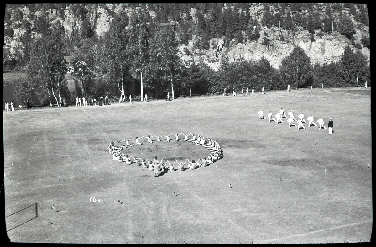
[[[188,142],[192,142],[196,145],[202,145],[203,147],[206,147],[210,152],[211,154],[208,156],[208,157],[204,157],[203,159],[199,159],[197,162],[193,159],[192,162],[189,161],[189,159],[186,159],[185,162],[183,161],[177,161],[175,159],[174,162],[170,162],[169,160],[166,160],[166,162],[163,162],[163,159],[161,161],[158,160],[158,157],[155,156],[154,157],[154,160],[153,161],[149,161],[149,159],[142,159],[142,158],[134,158],[133,156],[130,156],[129,155],[124,155],[123,153],[121,153],[120,150],[122,149],[125,149],[127,147],[133,147],[133,144],[139,144],[139,145],[142,145],[143,143],[140,142],[139,138],[136,137],[136,138],[130,138],[130,139],[134,139],[135,142],[133,142],[132,144],[130,144],[130,139],[125,139],[123,138],[121,141],[114,141],[114,142],[111,142],[109,145],[108,145],[108,152],[112,155],[112,160],[113,161],[119,161],[120,163],[121,162],[126,162],[126,164],[132,164],[132,163],[136,163],[137,166],[141,166],[143,168],[149,168],[150,171],[154,171],[154,177],[158,177],[159,176],[159,171],[164,171],[165,173],[167,173],[167,171],[175,171],[175,163],[177,163],[177,169],[176,170],[179,170],[179,171],[184,171],[185,170],[185,164],[188,162],[188,168],[190,168],[191,170],[193,169],[196,169],[198,167],[206,167],[212,163],[214,163],[215,161],[217,161],[218,159],[221,159],[223,158],[223,151],[221,149],[221,147],[219,146],[218,142],[209,138],[209,137],[206,137],[204,138],[203,135],[200,135],[197,133],[197,135],[193,135],[193,133],[189,133],[189,134],[183,134],[182,132],[180,134],[173,134],[171,133],[170,135],[162,135],[162,136],[156,136],[156,135],[153,135],[153,136],[142,136],[140,138],[146,138],[147,139],[147,142],[149,143],[154,143],[153,140],[152,140],[152,137],[156,137],[157,138],[157,141],[158,142],[161,142],[161,138],[162,137],[166,137],[166,141],[167,142],[170,142],[171,141],[171,138],[170,136],[174,135],[175,136],[175,141],[179,141],[180,138],[179,136],[180,135],[183,135],[185,136],[185,138],[183,139],[183,141],[188,141]],[[192,138],[189,139],[188,136],[192,135]],[[197,139],[196,139],[197,137]],[[125,145],[122,144],[122,142],[125,140]],[[155,140],[154,140],[155,141]],[[115,143],[118,142],[118,147],[115,146]],[[133,160],[132,160],[133,159]],[[202,161],[202,163],[200,163],[200,160]]]

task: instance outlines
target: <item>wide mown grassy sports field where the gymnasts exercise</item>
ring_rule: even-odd
[[[259,120],[260,108],[275,115],[281,107],[292,109],[295,117],[300,112],[315,121],[323,117],[326,127],[332,118],[334,133],[307,124],[299,131],[288,128],[286,118],[285,124]],[[3,112],[3,132],[5,215],[38,203],[38,217],[26,222],[20,216],[12,224],[21,225],[12,230],[6,218],[12,242],[326,243],[371,238],[370,89]],[[110,140],[171,132],[209,136],[219,142],[224,157],[205,168],[155,178],[153,171],[112,161],[108,153]],[[179,161],[209,154],[182,141],[144,141],[122,152]]]

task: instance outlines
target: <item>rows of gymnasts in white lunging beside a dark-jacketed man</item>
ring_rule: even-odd
[[[262,111],[262,109],[260,109],[260,111],[258,112],[258,114],[259,114],[259,119],[260,119],[260,120],[261,120],[262,118],[265,119],[265,117],[264,117],[264,112]],[[300,130],[301,128],[302,128],[302,129],[307,129],[307,128],[304,127],[304,125],[303,125],[303,122],[304,122],[305,124],[307,123],[307,121],[304,119],[304,114],[303,114],[303,112],[301,112],[301,113],[298,115],[299,120],[296,120],[296,118],[294,117],[293,111],[292,111],[291,109],[290,109],[290,111],[287,112],[287,115],[289,115],[289,117],[287,117],[287,116],[285,115],[285,111],[284,111],[284,109],[281,108],[281,109],[279,110],[279,112],[278,112],[276,115],[274,115],[274,117],[276,117],[276,119],[274,119],[274,117],[273,117],[273,113],[270,111],[270,112],[268,113],[269,123],[270,123],[270,121],[273,120],[273,121],[276,122],[277,124],[278,124],[278,123],[283,123],[283,124],[284,124],[284,121],[282,121],[282,118],[285,117],[285,118],[287,118],[287,123],[288,123],[288,127],[289,127],[289,128],[290,128],[290,127],[296,127],[296,126],[297,126],[297,127],[298,127],[298,130]],[[314,118],[313,118],[312,115],[309,115],[309,117],[307,118],[307,120],[308,120],[308,127],[311,127],[311,125],[314,125],[314,126],[317,127],[317,125],[316,125],[315,122],[314,122]],[[296,121],[297,125],[294,124],[294,121]],[[321,129],[321,128],[326,129],[326,127],[324,126],[324,120],[323,120],[322,117],[320,117],[320,119],[317,120],[317,123],[319,124],[318,129]]]

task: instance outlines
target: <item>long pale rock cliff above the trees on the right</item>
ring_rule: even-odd
[[[270,30],[269,30],[270,31]],[[272,31],[271,33],[273,33]],[[283,32],[282,32],[283,33]],[[287,36],[287,34],[286,34]],[[258,42],[246,42],[245,44],[233,44],[229,47],[223,47],[223,39],[211,39],[209,50],[194,49],[193,45],[180,45],[179,50],[182,53],[183,60],[194,59],[196,62],[204,62],[214,70],[218,70],[220,62],[223,58],[228,57],[230,62],[238,61],[244,58],[246,61],[258,60],[262,56],[269,59],[271,66],[279,68],[282,59],[293,51],[294,44],[299,45],[307,53],[311,59],[312,65],[318,62],[319,64],[338,62],[347,45],[354,50],[359,50],[353,47],[349,39],[338,32],[332,35],[315,36],[315,41],[311,42],[310,34],[307,30],[299,31],[294,37],[294,43],[287,43],[285,41],[274,40],[270,46],[261,44],[263,35]],[[269,36],[271,40],[276,38],[276,34]],[[192,55],[187,56],[183,50],[187,48]],[[365,55],[370,63],[370,50],[366,47],[360,49],[361,53]]]

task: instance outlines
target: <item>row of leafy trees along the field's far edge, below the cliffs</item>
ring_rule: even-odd
[[[250,16],[247,26],[251,19]],[[73,40],[62,29],[29,41],[27,79],[17,83],[15,97],[23,103],[29,100],[34,105],[55,105],[62,97],[74,102],[76,96],[108,95],[124,101],[129,95],[143,98],[145,93],[164,97],[169,92],[175,97],[221,92],[223,88],[260,90],[263,86],[284,88],[288,84],[331,87],[355,86],[356,80],[359,84],[370,82],[367,59],[349,46],[339,62],[323,65],[312,65],[299,46],[282,59],[279,69],[266,58],[235,62],[223,59],[218,71],[195,61],[184,62],[179,56],[179,32],[169,28],[159,31],[143,9],[130,17],[114,15],[110,29],[102,37],[88,37],[83,31],[73,46],[68,42]],[[203,28],[197,32],[203,32]],[[226,29],[221,32],[226,35]],[[74,64],[83,62],[74,72],[80,80],[75,92],[69,92],[64,78],[64,56],[70,53],[75,55]],[[102,80],[95,80],[96,77]]]

